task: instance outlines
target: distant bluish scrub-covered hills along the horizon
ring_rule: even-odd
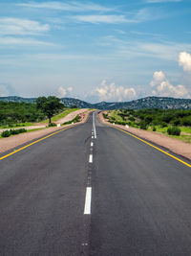
[[[34,103],[36,98],[21,98],[17,96],[0,97],[0,101]],[[123,103],[106,103],[89,104],[87,102],[74,98],[61,98],[61,102],[66,106],[76,106],[81,108],[97,108],[97,109],[142,109],[142,108],[182,108],[191,109],[191,99],[177,99],[169,97],[146,97],[131,102]]]

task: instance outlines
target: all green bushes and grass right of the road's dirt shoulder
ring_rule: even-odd
[[[191,143],[191,110],[122,109],[103,114],[110,123],[148,129]]]

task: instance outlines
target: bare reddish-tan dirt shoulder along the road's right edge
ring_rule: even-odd
[[[104,119],[102,112],[99,113],[99,119],[102,123],[113,127],[111,123]],[[130,131],[131,133],[138,135],[138,137],[154,142],[161,147],[164,147],[191,160],[191,144],[189,143],[167,137],[155,131],[143,130],[139,128],[125,128],[124,126],[120,125],[115,125],[115,127]]]

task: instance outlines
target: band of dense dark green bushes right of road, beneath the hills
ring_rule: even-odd
[[[183,109],[122,109],[117,111],[117,115],[121,117],[121,121],[117,121],[114,116],[110,117],[110,122],[117,121],[121,125],[137,125],[137,126],[160,126],[162,128],[168,126],[184,126],[191,127],[191,110]]]

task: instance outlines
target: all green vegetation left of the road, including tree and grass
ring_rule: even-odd
[[[27,130],[24,128],[36,123],[49,123],[49,127],[54,127],[56,124],[53,122],[78,109],[66,107],[60,102],[60,99],[54,96],[39,97],[33,104],[0,101],[0,128],[8,128],[0,133],[0,138],[39,129]],[[79,116],[68,123],[76,123],[78,120]]]

